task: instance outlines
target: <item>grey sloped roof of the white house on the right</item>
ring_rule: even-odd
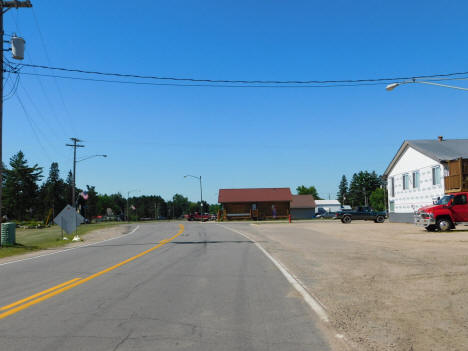
[[[403,144],[401,144],[400,149],[398,149],[395,157],[393,157],[392,162],[390,162],[385,170],[384,176],[388,176],[393,166],[395,166],[408,147],[412,147],[437,162],[455,160],[460,157],[468,158],[468,139],[448,139],[441,141],[438,139],[405,140]]]

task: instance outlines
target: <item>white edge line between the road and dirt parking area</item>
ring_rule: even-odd
[[[286,269],[286,267],[281,263],[279,262],[278,260],[276,260],[275,258],[273,258],[273,256],[271,256],[258,242],[256,242],[255,240],[253,240],[252,238],[250,238],[247,234],[245,233],[242,233],[236,229],[232,229],[232,228],[229,228],[229,227],[226,227],[222,224],[219,224],[221,227],[225,228],[225,229],[228,229],[228,230],[231,230],[235,233],[238,233],[242,236],[244,236],[245,238],[249,239],[250,241],[252,241],[258,248],[260,251],[262,251],[266,257],[268,257],[272,262],[273,264],[276,266],[276,268],[279,269],[279,271],[281,273],[283,273],[283,275],[285,276],[285,278],[288,280],[288,282],[297,290],[297,292],[302,296],[302,298],[304,299],[304,301],[309,305],[309,307],[319,316],[319,318],[326,322],[326,323],[329,323],[330,320],[328,319],[328,315],[327,315],[327,312],[325,311],[325,309],[322,307],[322,304],[316,300],[303,286],[303,284],[299,281],[299,279],[297,279],[296,277],[294,277],[294,275],[292,275],[291,273],[289,273],[289,271]]]

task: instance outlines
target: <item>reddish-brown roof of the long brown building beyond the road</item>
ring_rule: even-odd
[[[248,189],[219,189],[218,202],[271,202],[291,201],[289,188],[248,188]]]

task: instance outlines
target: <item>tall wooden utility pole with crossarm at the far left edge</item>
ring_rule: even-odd
[[[3,219],[2,217],[2,195],[3,195],[3,182],[2,182],[2,177],[3,177],[3,157],[2,157],[2,152],[3,152],[3,52],[8,51],[3,49],[3,35],[4,30],[3,30],[3,15],[11,8],[21,8],[21,7],[32,7],[32,4],[29,0],[27,1],[0,1],[0,41],[2,43],[2,50],[1,50],[1,58],[0,58],[0,223]]]

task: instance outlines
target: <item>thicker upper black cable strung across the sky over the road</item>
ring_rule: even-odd
[[[368,78],[368,79],[343,79],[343,80],[218,80],[218,79],[197,79],[197,78],[181,78],[181,77],[163,77],[163,76],[151,76],[151,75],[138,75],[138,74],[126,74],[126,73],[109,73],[99,71],[89,71],[76,68],[64,68],[64,67],[52,67],[45,65],[35,65],[22,63],[24,67],[34,67],[47,70],[56,70],[72,73],[81,74],[92,74],[102,76],[113,76],[121,78],[138,78],[138,79],[153,79],[153,80],[170,80],[170,81],[186,81],[186,82],[197,82],[197,83],[229,83],[229,84],[336,84],[336,83],[365,83],[365,82],[384,82],[384,81],[400,81],[409,79],[428,79],[428,78],[441,78],[441,77],[453,77],[460,75],[467,75],[468,72],[454,72],[454,73],[441,73],[431,75],[419,75],[409,77],[390,77],[390,78]]]

